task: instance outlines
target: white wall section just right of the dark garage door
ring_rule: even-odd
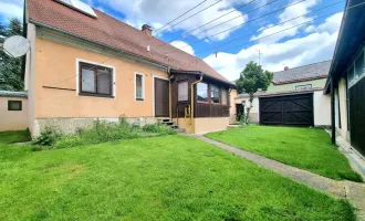
[[[324,95],[323,91],[314,92],[314,126],[331,125],[331,96]]]

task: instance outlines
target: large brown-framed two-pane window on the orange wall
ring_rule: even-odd
[[[107,67],[80,63],[80,95],[112,97],[113,71]]]

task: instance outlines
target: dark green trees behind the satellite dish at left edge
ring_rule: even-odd
[[[1,35],[22,35],[22,23],[17,18],[11,19],[8,27],[0,24]],[[21,77],[21,57],[11,57],[3,50],[0,50],[0,90],[22,91],[24,88]]]

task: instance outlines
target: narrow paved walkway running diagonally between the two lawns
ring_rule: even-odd
[[[365,221],[365,185],[351,182],[351,181],[336,181],[330,178],[325,178],[306,170],[302,170],[282,162],[255,155],[242,149],[238,149],[230,145],[222,144],[220,141],[212,140],[201,135],[190,135],[198,139],[212,144],[227,151],[233,152],[240,157],[243,157],[250,161],[261,165],[270,170],[273,170],[284,177],[292,178],[301,183],[307,185],[315,189],[325,191],[332,196],[344,198],[350,200],[357,209],[357,217],[359,220]]]

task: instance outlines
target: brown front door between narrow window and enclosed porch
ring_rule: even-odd
[[[155,77],[155,117],[169,117],[169,82]]]

